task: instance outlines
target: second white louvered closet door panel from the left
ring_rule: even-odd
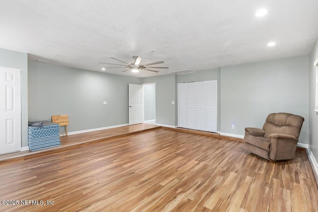
[[[187,128],[196,129],[196,96],[195,96],[195,82],[188,82],[187,84]]]

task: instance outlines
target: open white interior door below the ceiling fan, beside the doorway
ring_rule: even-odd
[[[143,85],[129,84],[129,125],[143,123]]]

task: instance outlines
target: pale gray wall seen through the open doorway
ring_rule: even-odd
[[[144,85],[144,120],[156,119],[156,84]]]

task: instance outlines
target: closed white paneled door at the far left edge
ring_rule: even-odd
[[[21,150],[20,74],[0,68],[0,154]]]

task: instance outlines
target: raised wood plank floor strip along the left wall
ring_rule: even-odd
[[[105,129],[105,130],[98,130],[93,132],[87,132],[87,133],[80,133],[80,134],[74,134],[69,136],[63,136],[60,137],[61,139],[61,145],[55,146],[51,148],[46,148],[38,151],[19,151],[19,152],[12,152],[8,154],[2,154],[0,155],[0,161],[13,159],[13,158],[19,158],[21,156],[27,156],[31,154],[37,154],[39,152],[45,152],[45,151],[52,151],[55,149],[72,146],[72,145],[78,145],[81,143],[91,142],[91,141],[99,141],[103,139],[110,139],[110,138],[118,138],[121,136],[127,136],[133,133],[138,133],[142,131],[152,130],[160,128],[160,126],[151,125],[151,124],[138,124],[138,125],[130,125],[130,126],[123,126],[118,128],[111,128],[111,129]]]

